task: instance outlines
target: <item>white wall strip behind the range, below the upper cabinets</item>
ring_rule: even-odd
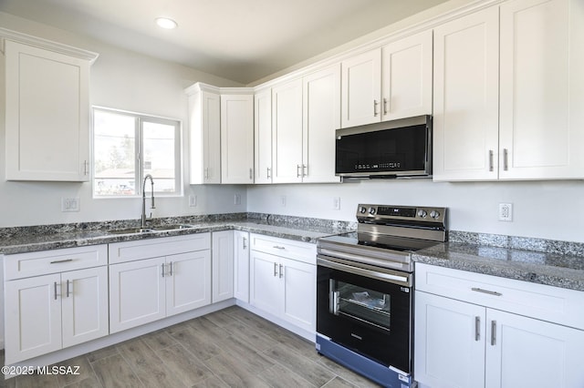
[[[281,197],[286,196],[286,206]],[[340,210],[333,199],[340,198]],[[513,204],[513,221],[498,220],[498,204]],[[355,220],[359,203],[449,208],[449,228],[584,242],[584,181],[433,182],[363,180],[327,185],[249,187],[247,210],[328,220]]]

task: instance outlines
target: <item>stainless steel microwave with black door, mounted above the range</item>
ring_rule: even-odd
[[[335,131],[335,175],[406,178],[432,175],[432,117],[342,128]]]

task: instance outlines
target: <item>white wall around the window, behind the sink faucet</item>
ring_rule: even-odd
[[[193,68],[142,56],[108,46],[84,36],[0,13],[0,26],[31,36],[40,36],[69,46],[99,53],[90,70],[90,98],[94,105],[114,107],[183,121],[184,182],[188,182],[188,107],[185,87],[203,81],[218,87],[240,84],[202,73]],[[4,58],[0,58],[0,90],[4,90]],[[0,95],[5,106],[5,94]],[[5,148],[4,109],[0,109],[0,149]],[[154,217],[245,211],[245,186],[189,186],[185,197],[157,199]],[[234,205],[234,195],[241,205]],[[196,208],[188,206],[188,195],[197,195]],[[62,197],[79,197],[80,211],[61,212]],[[92,199],[91,183],[5,181],[4,152],[0,151],[0,227],[52,223],[138,219],[141,199]]]

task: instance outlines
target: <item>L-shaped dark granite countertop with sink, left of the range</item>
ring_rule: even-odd
[[[351,228],[351,223],[303,219],[296,217],[256,215],[221,215],[221,217],[172,218],[156,220],[149,225],[186,224],[189,228],[119,234],[111,230],[136,228],[136,220],[103,223],[48,225],[43,227],[5,228],[0,230],[0,254],[15,254],[38,250],[55,250],[121,241],[181,236],[219,230],[245,230],[288,240],[316,243],[321,237],[339,234]]]

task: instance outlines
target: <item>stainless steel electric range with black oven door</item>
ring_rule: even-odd
[[[356,232],[318,240],[317,351],[413,387],[412,252],[447,240],[446,209],[359,205]]]

